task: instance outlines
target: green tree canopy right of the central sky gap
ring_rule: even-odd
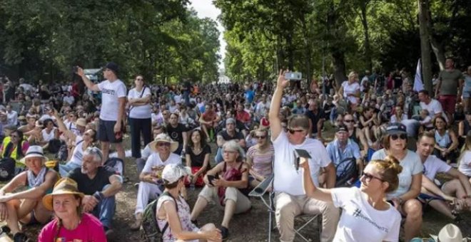
[[[423,0],[420,0],[423,1]],[[327,73],[396,68],[414,71],[420,58],[418,1],[215,0],[226,27],[226,73],[234,80],[267,80],[289,68],[310,79]],[[466,0],[430,0],[434,70],[444,56],[469,60],[471,19]]]

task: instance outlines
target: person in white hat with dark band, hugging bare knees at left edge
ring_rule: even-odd
[[[19,229],[19,221],[26,224],[49,221],[51,211],[44,208],[41,199],[44,194],[51,192],[58,177],[54,170],[44,166],[46,157],[40,146],[29,147],[21,161],[25,162],[28,170],[16,175],[0,189],[0,221],[6,221],[15,241],[27,240]],[[25,184],[28,189],[12,193]]]

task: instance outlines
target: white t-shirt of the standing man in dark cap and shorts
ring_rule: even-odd
[[[119,98],[126,98],[126,85],[121,80],[103,80],[98,83],[101,90],[100,119],[105,121],[118,120]]]

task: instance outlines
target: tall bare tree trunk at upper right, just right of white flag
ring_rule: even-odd
[[[422,81],[425,84],[425,89],[432,95],[432,58],[430,55],[430,33],[428,28],[430,23],[428,4],[429,0],[418,0]]]

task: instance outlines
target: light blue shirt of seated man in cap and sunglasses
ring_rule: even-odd
[[[333,142],[327,144],[327,154],[329,154],[330,159],[336,167],[337,175],[342,174],[344,166],[338,167],[338,164],[346,158],[355,158],[360,159],[360,147],[353,140],[348,139],[345,149],[342,151],[338,144],[338,140],[335,139]],[[344,163],[345,164],[345,163]],[[345,164],[347,165],[347,164]]]

